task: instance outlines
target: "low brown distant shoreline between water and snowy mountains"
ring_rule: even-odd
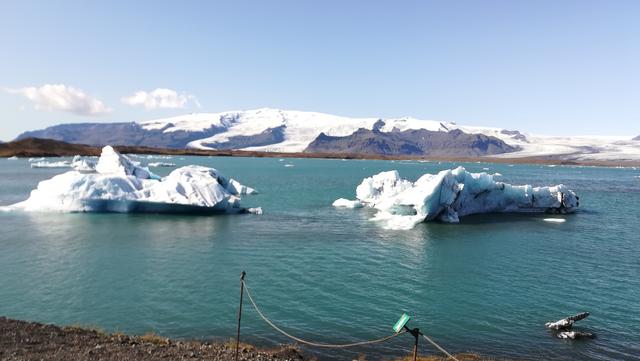
[[[256,158],[315,158],[315,159],[366,159],[366,160],[413,160],[428,162],[460,162],[460,163],[498,163],[498,164],[541,164],[541,165],[573,165],[596,167],[638,167],[640,160],[576,160],[566,159],[559,155],[535,157],[431,157],[431,156],[387,156],[379,154],[349,153],[285,153],[257,152],[246,150],[201,150],[172,149],[135,146],[114,146],[124,154],[158,154],[182,156],[214,156],[214,157],[256,157]],[[51,139],[28,138],[14,142],[0,143],[0,157],[71,157],[99,156],[101,147],[84,144],[71,144]]]

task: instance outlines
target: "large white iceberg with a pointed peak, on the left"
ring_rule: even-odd
[[[9,210],[59,212],[261,213],[245,209],[240,194],[255,193],[213,168],[186,166],[160,178],[106,146],[95,170],[42,181]]]

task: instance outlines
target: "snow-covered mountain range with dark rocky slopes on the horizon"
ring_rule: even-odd
[[[50,138],[72,143],[91,145],[121,144],[172,148],[198,149],[243,149],[266,152],[303,152],[319,136],[342,139],[342,144],[351,142],[348,149],[359,149],[354,137],[359,129],[376,130],[367,141],[384,143],[395,141],[397,136],[410,130],[426,130],[420,137],[436,137],[440,147],[456,144],[454,136],[471,135],[464,138],[469,147],[456,155],[494,155],[502,157],[557,156],[576,160],[640,160],[640,141],[631,137],[557,137],[521,133],[517,130],[463,126],[452,122],[402,118],[349,118],[324,113],[279,109],[256,109],[228,111],[222,113],[194,113],[177,117],[130,123],[83,123],[63,124],[43,130],[26,132],[18,139],[27,137]],[[454,132],[455,131],[455,132]],[[406,133],[408,134],[408,133]],[[447,138],[448,136],[451,138]],[[413,134],[415,136],[415,134]],[[482,137],[481,137],[482,136]],[[371,138],[375,139],[371,139]],[[326,139],[326,138],[323,138]],[[415,139],[401,138],[403,142]],[[426,146],[436,144],[422,142]],[[466,144],[465,143],[465,144]],[[504,144],[502,144],[504,143]],[[413,144],[413,143],[411,143]],[[424,145],[423,144],[423,148]],[[482,153],[483,149],[491,152]],[[392,144],[393,145],[393,144]],[[497,146],[496,146],[497,145]],[[361,148],[361,147],[360,147]],[[393,148],[393,147],[390,147]],[[395,149],[395,148],[393,148]],[[401,147],[397,147],[401,149]],[[427,148],[425,154],[432,154]],[[446,154],[443,153],[443,154]],[[453,154],[453,153],[452,153]]]

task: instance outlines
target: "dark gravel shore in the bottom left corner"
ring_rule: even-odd
[[[234,360],[235,345],[180,342],[155,335],[107,334],[0,317],[0,360]],[[240,360],[298,361],[293,347],[240,346]]]

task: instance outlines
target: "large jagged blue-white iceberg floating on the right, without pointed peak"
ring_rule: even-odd
[[[459,217],[478,213],[564,214],[578,208],[578,197],[564,185],[515,186],[493,177],[458,167],[411,182],[400,178],[397,171],[382,172],[365,178],[356,188],[356,197],[377,209],[373,220],[389,229],[410,229],[431,220],[457,223]]]

